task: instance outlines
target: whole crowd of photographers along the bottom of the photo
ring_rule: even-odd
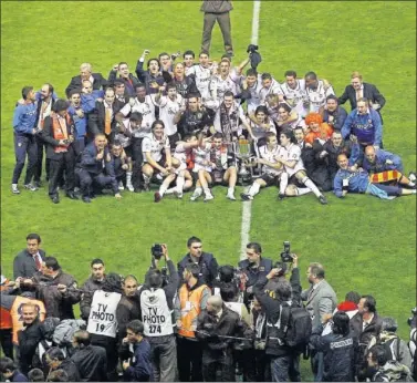
[[[317,382],[416,379],[416,310],[407,344],[373,296],[337,298],[320,263],[305,267],[304,281],[288,241],[280,260],[250,242],[246,259],[220,267],[199,238],[187,248],[176,266],[154,245],[144,278],[107,273],[93,259],[79,287],[28,235],[13,277],[1,275],[2,377],[298,382],[304,358]]]

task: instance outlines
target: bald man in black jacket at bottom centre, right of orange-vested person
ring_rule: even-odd
[[[233,340],[221,338],[252,338],[252,330],[240,320],[239,314],[228,309],[221,297],[211,296],[207,308],[197,319],[197,338],[202,343],[202,376],[205,382],[217,382],[220,372],[222,382],[234,381]]]

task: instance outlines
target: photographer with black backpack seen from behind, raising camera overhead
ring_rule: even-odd
[[[298,257],[292,256],[296,265]],[[267,283],[282,275],[282,269],[272,269],[265,278],[258,280],[253,292],[267,317],[265,354],[271,361],[272,381],[286,382],[291,379],[292,382],[300,382],[300,353],[310,339],[311,319],[299,303],[300,283],[296,286],[294,282],[293,291],[291,283],[280,278],[274,283],[274,290],[265,291]]]

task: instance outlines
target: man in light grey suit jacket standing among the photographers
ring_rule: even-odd
[[[332,315],[337,306],[337,298],[333,288],[324,279],[324,268],[321,263],[310,263],[306,273],[311,286],[301,293],[301,299],[305,301],[305,309],[310,312],[314,331],[319,325],[326,322],[329,315]],[[314,381],[321,382],[324,368],[323,353],[312,350],[311,366]]]

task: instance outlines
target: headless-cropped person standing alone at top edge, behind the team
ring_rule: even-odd
[[[216,21],[219,23],[223,35],[225,51],[229,58],[233,56],[231,43],[230,11],[233,9],[231,1],[204,0],[200,11],[205,12],[202,27],[201,51],[209,54],[211,45],[211,31]]]

